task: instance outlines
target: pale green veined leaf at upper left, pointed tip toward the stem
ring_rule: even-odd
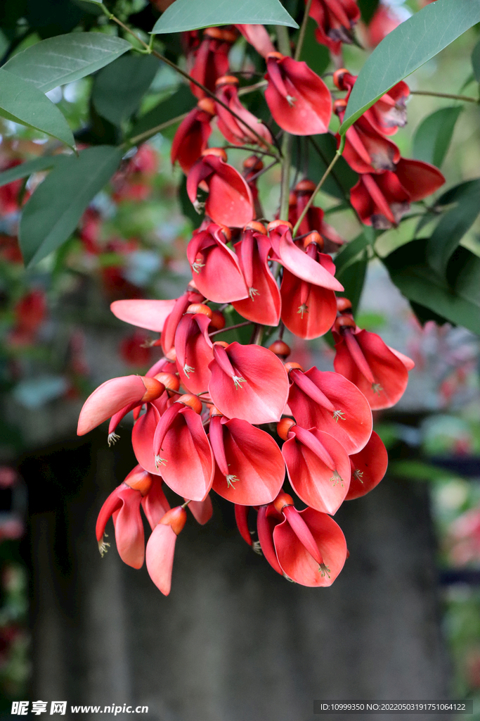
[[[101,32],[71,32],[30,45],[13,56],[4,70],[49,90],[83,78],[130,50],[127,40]]]

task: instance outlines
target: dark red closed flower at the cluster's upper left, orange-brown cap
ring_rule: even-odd
[[[210,121],[215,115],[215,104],[211,97],[204,97],[178,125],[173,137],[170,159],[187,174],[192,165],[207,148],[212,133]]]

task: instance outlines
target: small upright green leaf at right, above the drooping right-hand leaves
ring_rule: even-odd
[[[413,156],[438,168],[443,163],[463,107],[442,107],[422,120],[413,138]]]

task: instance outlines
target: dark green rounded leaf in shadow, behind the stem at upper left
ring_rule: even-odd
[[[137,110],[158,68],[152,55],[127,55],[107,65],[96,76],[91,93],[97,112],[121,125]]]

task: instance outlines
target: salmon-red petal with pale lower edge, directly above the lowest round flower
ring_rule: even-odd
[[[350,461],[345,448],[328,433],[310,428],[335,464],[335,472],[298,438],[289,438],[282,446],[291,487],[307,505],[322,513],[335,515],[345,500],[350,485]]]

